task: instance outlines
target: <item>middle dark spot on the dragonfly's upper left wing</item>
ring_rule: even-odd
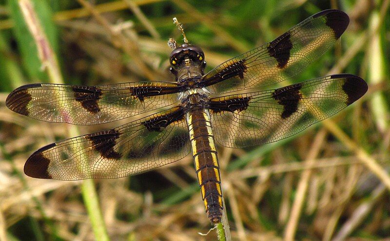
[[[81,102],[82,107],[92,114],[100,111],[98,100],[101,96],[101,90],[95,86],[77,86],[73,87],[75,98]]]

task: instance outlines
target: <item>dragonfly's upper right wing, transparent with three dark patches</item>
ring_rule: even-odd
[[[220,94],[290,79],[330,49],[348,24],[342,11],[319,12],[272,42],[220,64],[202,84]]]

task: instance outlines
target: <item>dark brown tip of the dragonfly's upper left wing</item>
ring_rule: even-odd
[[[27,105],[30,103],[33,97],[28,92],[28,89],[40,86],[40,84],[28,84],[15,89],[11,92],[11,94],[8,95],[7,100],[5,100],[5,104],[10,110],[16,113],[29,116],[30,113],[28,111]]]

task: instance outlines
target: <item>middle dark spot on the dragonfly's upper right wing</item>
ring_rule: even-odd
[[[277,67],[279,69],[284,68],[290,59],[290,51],[292,49],[292,42],[290,38],[291,33],[286,32],[279,38],[270,42],[267,47],[268,53],[276,59]]]

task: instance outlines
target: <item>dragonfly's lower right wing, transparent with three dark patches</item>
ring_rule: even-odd
[[[358,100],[367,88],[359,77],[342,74],[213,98],[209,109],[215,140],[226,147],[246,147],[291,137]]]

